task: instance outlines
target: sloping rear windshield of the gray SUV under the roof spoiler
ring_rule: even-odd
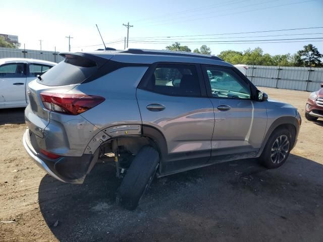
[[[41,80],[37,79],[38,83],[46,86],[65,86],[82,83],[89,76],[97,71],[94,64],[81,65],[74,63],[71,59],[66,58],[55,67],[51,68],[43,75]]]

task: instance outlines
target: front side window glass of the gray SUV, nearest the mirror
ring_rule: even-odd
[[[250,99],[250,87],[234,71],[225,68],[206,67],[213,97]]]

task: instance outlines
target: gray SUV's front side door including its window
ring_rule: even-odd
[[[267,124],[264,103],[252,100],[248,80],[232,68],[204,66],[203,71],[214,106],[212,161],[254,157]]]

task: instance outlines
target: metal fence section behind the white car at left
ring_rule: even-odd
[[[57,51],[43,51],[34,49],[13,49],[0,47],[0,58],[32,58],[49,62],[61,62],[64,58]]]

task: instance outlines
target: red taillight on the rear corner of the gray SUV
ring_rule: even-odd
[[[40,93],[40,98],[44,106],[54,112],[61,112],[77,115],[105,100],[100,96],[88,96],[85,94],[61,94],[61,93]]]

